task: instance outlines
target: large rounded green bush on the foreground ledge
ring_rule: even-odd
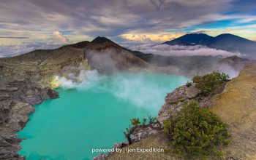
[[[195,101],[185,104],[165,121],[164,127],[174,151],[184,156],[218,155],[222,145],[229,143],[227,125],[206,108],[199,108]]]

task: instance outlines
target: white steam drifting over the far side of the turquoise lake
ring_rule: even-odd
[[[181,76],[176,83],[166,87],[165,84],[156,84],[154,79],[143,74],[146,73],[116,73],[111,76],[102,76],[94,71],[83,71],[79,76],[80,82],[75,82],[64,77],[59,77],[61,87],[66,89],[92,89],[91,91],[107,92],[114,97],[127,101],[138,107],[148,109],[159,108],[164,103],[167,92],[187,82]],[[157,75],[156,75],[157,76]],[[178,83],[178,84],[177,84]]]

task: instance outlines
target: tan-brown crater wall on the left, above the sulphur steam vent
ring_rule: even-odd
[[[72,66],[89,69],[83,49],[72,47],[40,49],[25,55],[0,59],[2,79],[7,81],[24,81],[26,79],[42,88],[50,87],[50,81],[54,75],[67,73],[65,69]]]

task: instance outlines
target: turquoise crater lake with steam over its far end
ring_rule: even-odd
[[[35,106],[18,152],[26,159],[91,159],[91,148],[126,140],[132,117],[157,116],[167,92],[189,79],[152,73],[93,75],[82,84],[62,81],[60,98]]]

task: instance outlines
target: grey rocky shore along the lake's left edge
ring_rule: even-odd
[[[25,127],[29,114],[34,112],[33,105],[58,97],[58,92],[29,81],[1,83],[0,92],[4,95],[0,100],[0,159],[23,159],[17,154],[20,140],[15,133]]]

